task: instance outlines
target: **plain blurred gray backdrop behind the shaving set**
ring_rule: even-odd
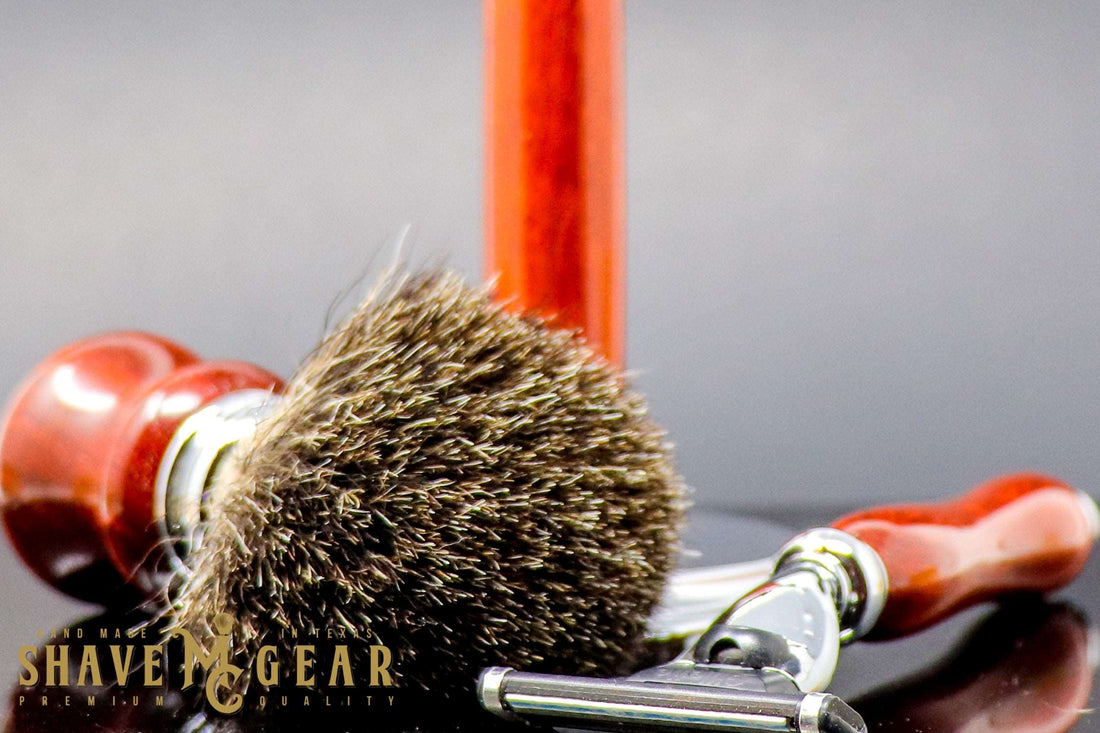
[[[1100,486],[1100,3],[627,3],[629,364],[704,504]],[[481,276],[477,2],[0,2],[0,391]]]

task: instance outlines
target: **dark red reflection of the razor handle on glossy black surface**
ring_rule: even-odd
[[[934,668],[850,702],[870,731],[1092,730],[1096,643],[1096,630],[1068,605],[1005,604]]]

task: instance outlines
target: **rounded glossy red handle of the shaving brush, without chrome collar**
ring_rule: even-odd
[[[153,486],[173,433],[215,397],[280,386],[256,366],[200,361],[147,333],[56,352],[16,391],[0,428],[0,510],[16,550],[76,598],[157,590]]]

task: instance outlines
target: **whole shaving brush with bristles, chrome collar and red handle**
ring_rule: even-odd
[[[12,400],[0,463],[55,587],[160,597],[208,649],[229,614],[248,670],[343,630],[351,669],[380,643],[403,689],[471,704],[485,666],[636,660],[684,505],[616,368],[446,272],[384,278],[285,389],[148,335],[72,344]]]

